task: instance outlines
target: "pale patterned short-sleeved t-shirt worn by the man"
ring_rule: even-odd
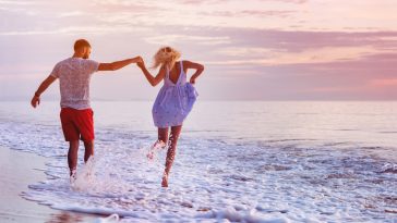
[[[59,78],[61,108],[89,109],[89,80],[99,63],[82,58],[69,58],[53,67],[51,76]]]

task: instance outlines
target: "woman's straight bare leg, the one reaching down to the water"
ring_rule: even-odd
[[[169,147],[167,150],[166,168],[163,174],[163,182],[161,182],[163,187],[168,187],[168,175],[176,157],[178,138],[179,135],[181,134],[181,131],[182,131],[182,125],[171,127],[171,135],[169,136]]]

